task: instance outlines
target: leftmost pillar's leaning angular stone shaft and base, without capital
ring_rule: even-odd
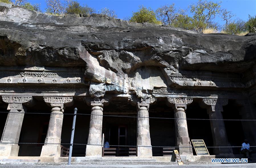
[[[19,142],[23,118],[24,110],[12,109],[9,111],[1,138],[1,142],[8,144],[0,144],[0,156],[18,156],[19,146],[17,143]]]

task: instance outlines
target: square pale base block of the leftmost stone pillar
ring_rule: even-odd
[[[18,156],[18,144],[0,144],[0,156]]]

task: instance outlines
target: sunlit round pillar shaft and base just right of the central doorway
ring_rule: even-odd
[[[148,108],[149,103],[137,104],[137,156],[152,156]]]

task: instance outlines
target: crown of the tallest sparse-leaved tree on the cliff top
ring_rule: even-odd
[[[199,0],[196,4],[190,6],[193,18],[200,23],[198,26],[206,25],[206,28],[216,28],[217,23],[214,22],[214,18],[220,14],[220,3]]]

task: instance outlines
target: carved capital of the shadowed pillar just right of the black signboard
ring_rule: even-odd
[[[212,112],[223,112],[222,106],[226,106],[228,104],[228,99],[204,98],[202,102],[203,106],[206,106],[206,108]]]

